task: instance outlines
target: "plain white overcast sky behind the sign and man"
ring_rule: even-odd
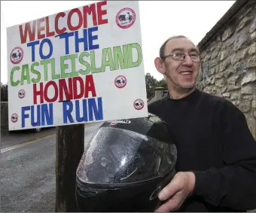
[[[99,1],[1,1],[1,82],[8,82],[6,28]],[[163,78],[154,67],[160,46],[172,35],[198,44],[236,1],[139,1],[145,73]],[[20,13],[22,11],[22,13]]]

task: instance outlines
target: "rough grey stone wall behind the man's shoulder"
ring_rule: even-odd
[[[197,87],[236,105],[256,139],[256,1],[235,4],[231,12],[241,8],[198,44],[202,65]]]

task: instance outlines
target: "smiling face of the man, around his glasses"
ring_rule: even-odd
[[[171,53],[199,54],[194,44],[187,38],[174,38],[166,44],[165,56]],[[166,57],[163,61],[166,78],[169,78],[174,87],[190,89],[194,87],[199,73],[200,62],[193,62],[190,56],[185,56],[184,60],[174,60]]]

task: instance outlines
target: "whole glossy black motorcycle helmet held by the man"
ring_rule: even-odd
[[[176,157],[169,126],[154,114],[103,123],[78,165],[78,211],[154,211]]]

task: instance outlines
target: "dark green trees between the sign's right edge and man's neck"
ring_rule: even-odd
[[[155,79],[153,75],[150,75],[150,73],[146,73],[145,81],[146,81],[146,90],[147,90],[148,99],[150,99],[151,96],[154,95],[154,89],[156,87],[163,87],[164,90],[168,90],[165,78],[163,78],[160,81],[157,81],[157,79]]]

